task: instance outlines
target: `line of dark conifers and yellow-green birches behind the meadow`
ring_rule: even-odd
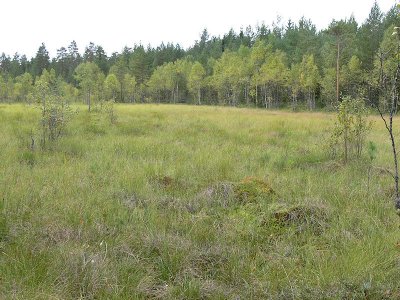
[[[189,49],[135,45],[108,56],[90,43],[80,54],[73,41],[50,59],[42,44],[36,56],[0,57],[0,100],[31,101],[44,79],[57,82],[73,101],[197,103],[275,108],[331,107],[345,96],[377,101],[377,78],[397,49],[396,7],[378,4],[361,25],[354,17],[317,31],[311,20],[279,20],[272,26],[230,30],[210,37],[205,29]],[[42,80],[40,80],[42,79]],[[40,89],[39,89],[40,90]]]

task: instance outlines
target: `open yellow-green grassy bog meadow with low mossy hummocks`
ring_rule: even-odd
[[[371,166],[328,155],[333,114],[73,108],[31,151],[39,110],[0,105],[1,299],[400,298],[377,117]]]

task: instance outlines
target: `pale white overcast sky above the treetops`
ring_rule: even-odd
[[[387,12],[395,0],[378,0]],[[72,40],[83,52],[89,42],[103,46],[107,54],[135,43],[158,46],[162,41],[184,48],[198,40],[204,28],[223,35],[230,28],[265,22],[279,15],[285,24],[305,16],[317,29],[332,19],[352,13],[362,23],[374,0],[1,0],[0,53],[35,55],[44,42],[50,56]]]

